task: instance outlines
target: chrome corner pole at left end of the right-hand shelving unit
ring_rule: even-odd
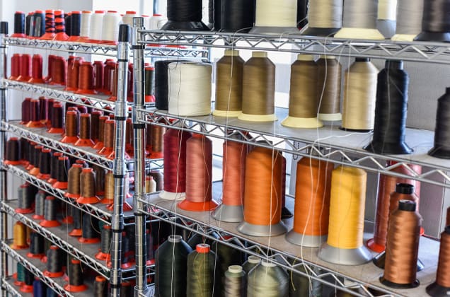
[[[139,296],[146,290],[146,216],[139,212],[144,208],[141,202],[144,199],[145,191],[145,124],[139,122],[141,113],[138,111],[144,108],[144,48],[139,41],[142,38],[139,30],[144,28],[144,18],[133,18],[133,78],[134,78],[134,106],[132,112],[134,129],[134,233],[136,238],[135,257],[136,257],[136,286],[134,287],[134,296]]]

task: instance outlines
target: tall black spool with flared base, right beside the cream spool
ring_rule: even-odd
[[[386,60],[385,69],[378,75],[374,138],[364,148],[367,151],[402,155],[412,152],[405,143],[408,83],[403,62]]]

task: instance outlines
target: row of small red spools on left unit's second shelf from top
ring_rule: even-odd
[[[80,95],[93,95],[101,93],[108,95],[108,100],[117,100],[118,64],[115,59],[106,59],[105,62],[84,61],[82,57],[69,56],[69,59],[50,54],[47,57],[47,76],[43,76],[42,56],[34,54],[13,54],[11,57],[12,81],[28,83],[48,83],[54,86],[64,86],[65,91]],[[133,101],[133,64],[128,67],[128,94],[127,100]],[[146,93],[145,101],[154,102],[154,68],[145,64]]]

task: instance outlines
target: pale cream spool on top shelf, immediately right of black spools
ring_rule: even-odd
[[[256,0],[255,27],[250,33],[298,33],[296,0]]]

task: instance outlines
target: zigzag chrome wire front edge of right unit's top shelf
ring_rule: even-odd
[[[412,62],[450,64],[450,45],[444,42],[397,42],[392,40],[345,40],[296,34],[254,35],[245,33],[139,30],[141,44],[218,47],[339,57],[368,57]]]

